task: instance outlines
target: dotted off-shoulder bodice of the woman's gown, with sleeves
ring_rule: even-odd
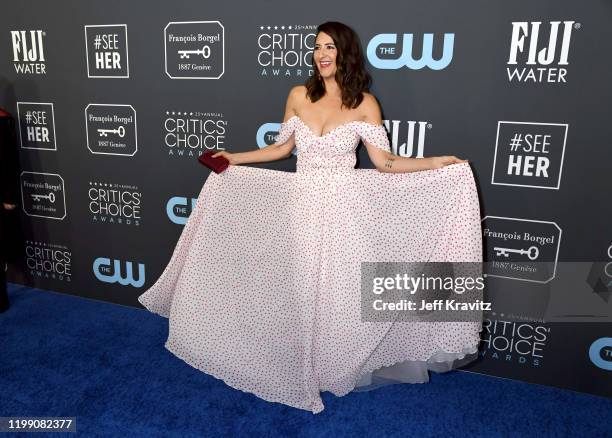
[[[362,120],[343,123],[319,136],[299,116],[292,116],[281,123],[276,143],[286,142],[294,133],[297,172],[330,168],[353,170],[357,162],[355,149],[360,139],[379,149],[391,151],[385,127]]]

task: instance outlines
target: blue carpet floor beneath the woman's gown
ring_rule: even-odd
[[[168,321],[145,310],[17,285],[9,296],[0,416],[72,416],[88,437],[611,436],[610,399],[460,371],[323,393],[313,415],[185,364],[163,347]]]

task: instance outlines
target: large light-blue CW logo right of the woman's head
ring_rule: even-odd
[[[394,33],[382,33],[373,37],[366,50],[370,64],[382,70],[398,70],[403,67],[411,70],[420,70],[424,67],[442,70],[448,67],[453,59],[454,33],[444,34],[442,56],[438,59],[434,59],[433,54],[433,33],[423,34],[423,48],[415,50],[416,53],[421,53],[418,59],[413,55],[414,34],[403,34],[402,44],[398,44],[397,41],[398,35]]]

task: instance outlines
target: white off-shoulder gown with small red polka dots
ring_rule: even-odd
[[[317,136],[293,116],[297,171],[211,173],[159,279],[138,299],[169,319],[165,347],[233,388],[313,413],[320,393],[426,382],[477,352],[476,322],[362,322],[362,261],[482,261],[468,164],[355,169],[382,125]]]

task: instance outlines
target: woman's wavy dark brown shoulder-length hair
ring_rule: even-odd
[[[327,21],[317,27],[317,35],[324,32],[336,46],[336,82],[342,91],[342,105],[357,108],[363,101],[363,91],[369,91],[372,77],[365,69],[361,42],[357,33],[338,21]],[[316,102],[325,94],[325,85],[319,68],[313,62],[315,73],[306,80],[306,95]]]

